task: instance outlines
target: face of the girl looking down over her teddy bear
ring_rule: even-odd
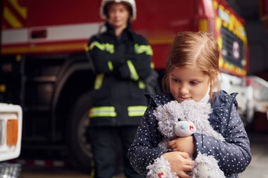
[[[175,68],[169,73],[171,95],[178,102],[183,100],[200,101],[209,90],[210,78],[196,65]]]

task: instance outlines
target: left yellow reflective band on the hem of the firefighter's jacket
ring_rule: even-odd
[[[91,117],[116,117],[116,108],[113,106],[92,107],[90,109]]]

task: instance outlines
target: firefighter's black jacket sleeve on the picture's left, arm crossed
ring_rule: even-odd
[[[90,37],[86,51],[94,64],[96,73],[114,74],[118,71],[117,61],[124,60],[123,55],[115,55],[113,44],[102,42],[96,35]]]

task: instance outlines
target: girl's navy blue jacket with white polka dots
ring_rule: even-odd
[[[238,173],[243,172],[251,161],[250,141],[236,109],[236,95],[237,93],[228,95],[221,90],[213,97],[213,101],[209,100],[213,109],[209,122],[214,130],[224,136],[224,142],[212,136],[194,133],[194,158],[198,152],[213,155],[226,177],[238,177]],[[157,129],[158,121],[153,115],[157,106],[171,100],[174,99],[168,94],[150,96],[150,104],[128,150],[130,164],[140,174],[146,175],[147,165],[152,164],[163,153],[171,151],[157,147],[163,136]]]

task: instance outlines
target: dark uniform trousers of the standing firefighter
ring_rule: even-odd
[[[128,159],[128,148],[133,143],[137,126],[96,126],[90,129],[90,141],[95,160],[95,178],[113,177],[120,148],[118,140],[121,141],[123,150],[121,154],[123,154],[123,171],[126,177],[142,177],[133,170]]]

